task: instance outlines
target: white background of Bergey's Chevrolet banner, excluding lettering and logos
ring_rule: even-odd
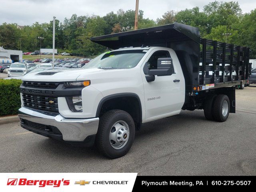
[[[122,191],[131,192],[134,186],[137,173],[0,173],[0,191],[2,192],[108,192]],[[17,178],[16,185],[7,185],[9,178]],[[39,187],[39,183],[35,186],[22,185],[19,186],[20,178],[27,180],[69,180],[69,185],[60,187],[45,186]],[[75,184],[76,181],[85,180],[90,184]],[[93,184],[93,181],[128,181],[127,184]]]

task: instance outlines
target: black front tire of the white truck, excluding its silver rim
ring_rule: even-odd
[[[130,130],[129,139],[121,149],[115,149],[110,144],[109,135],[112,126],[118,121],[125,121]],[[96,134],[96,146],[98,150],[108,158],[119,158],[124,156],[131,148],[135,137],[135,125],[132,116],[123,110],[110,110],[100,117],[98,132]]]

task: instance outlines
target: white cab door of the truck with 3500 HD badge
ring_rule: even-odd
[[[157,69],[158,58],[172,58],[174,74],[149,77],[149,70]],[[150,80],[150,78],[152,78]],[[185,100],[185,80],[176,53],[169,48],[158,48],[150,52],[142,65],[144,85],[144,122],[179,114]]]

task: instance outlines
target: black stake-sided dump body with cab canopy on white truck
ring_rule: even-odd
[[[172,48],[180,61],[186,95],[244,84],[249,75],[249,48],[200,38],[198,28],[174,23],[91,38],[111,49],[140,46]]]

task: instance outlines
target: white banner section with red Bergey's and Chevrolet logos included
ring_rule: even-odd
[[[131,192],[136,173],[0,173],[0,191]]]

